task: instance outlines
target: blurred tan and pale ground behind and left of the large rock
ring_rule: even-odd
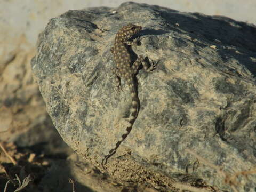
[[[74,171],[75,168],[70,171],[70,167],[74,166],[72,162],[77,164],[78,157],[70,158],[73,151],[62,141],[47,115],[37,83],[33,81],[30,60],[36,53],[38,34],[44,30],[51,18],[68,10],[96,6],[118,7],[123,2],[125,1],[0,0],[0,148],[2,148],[2,150],[0,149],[0,191],[3,191],[5,183],[10,179],[11,174],[14,174],[10,171],[11,168],[6,168],[7,166],[3,163],[20,165],[20,159],[30,164],[31,167],[38,166],[37,172],[41,171],[41,175],[37,175],[37,178],[40,178],[40,181],[38,179],[37,182],[41,184],[47,184],[50,181],[51,185],[61,183],[52,180],[52,177],[50,179],[48,177],[47,180],[45,176],[49,167],[53,167],[52,164],[54,164],[54,169],[50,170],[50,174],[57,174],[58,176],[55,178],[59,179],[58,173],[63,172],[63,167],[66,167],[67,177],[76,178],[76,180],[83,178],[81,183],[87,182],[86,186],[91,188],[97,188],[99,178],[106,177],[102,176],[95,168],[90,167],[84,168],[81,175],[75,175],[79,172]],[[254,25],[256,23],[256,1],[252,0],[148,0],[134,2],[155,4],[184,12],[222,15]],[[66,161],[68,157],[69,164]],[[63,162],[60,162],[61,160]],[[81,164],[80,166],[82,167]],[[34,173],[37,172],[34,171]],[[71,172],[73,173],[71,174]],[[21,173],[21,170],[18,170],[17,173]],[[86,175],[83,175],[85,173]],[[90,176],[89,173],[94,176],[87,177]],[[66,191],[68,189],[66,185],[71,187],[71,184],[67,182],[67,177],[62,179],[66,183],[65,185],[60,184],[62,188],[59,186],[55,186],[55,188]],[[92,185],[92,178],[95,180],[95,185]],[[90,183],[88,183],[89,181]],[[105,190],[103,191],[108,191],[106,178],[104,182],[102,186],[105,186]],[[46,184],[44,187],[49,187]],[[91,191],[86,186],[82,186],[81,191],[85,191],[85,189]],[[121,191],[118,186],[114,189],[113,185],[109,185],[108,188],[109,191]],[[101,191],[101,189],[94,191]],[[147,190],[143,188],[138,191]]]

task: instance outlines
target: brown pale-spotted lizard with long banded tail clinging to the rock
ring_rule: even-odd
[[[130,117],[127,119],[127,127],[126,132],[123,133],[122,137],[116,143],[115,147],[111,149],[108,155],[104,156],[102,160],[102,167],[107,163],[109,157],[116,153],[117,148],[121,143],[125,140],[125,138],[129,135],[132,130],[132,126],[135,122],[135,119],[139,113],[139,97],[137,92],[137,86],[135,84],[135,75],[140,67],[143,65],[143,68],[147,71],[153,71],[156,68],[157,63],[155,64],[153,61],[151,62],[150,67],[147,66],[146,58],[140,55],[133,63],[131,60],[131,54],[129,53],[129,46],[138,45],[140,43],[139,38],[133,39],[131,41],[131,37],[141,31],[142,27],[133,25],[129,23],[126,26],[123,26],[118,30],[114,46],[111,48],[111,52],[114,56],[114,61],[116,64],[116,68],[113,68],[111,71],[115,75],[115,81],[118,87],[118,91],[122,91],[121,88],[121,77],[124,79],[126,84],[129,86],[129,90],[132,98],[132,106],[130,109]],[[105,163],[104,163],[105,162]]]

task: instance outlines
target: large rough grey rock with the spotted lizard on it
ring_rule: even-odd
[[[103,170],[131,105],[124,82],[114,90],[110,47],[131,22],[143,26],[133,51],[159,63],[139,71],[138,118]],[[31,66],[63,140],[114,178],[160,190],[254,191],[255,174],[229,176],[256,164],[255,34],[230,18],[127,2],[50,20]]]

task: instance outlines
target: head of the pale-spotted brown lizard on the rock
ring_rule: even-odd
[[[117,34],[119,34],[119,38],[122,38],[123,41],[126,41],[127,39],[131,38],[134,34],[139,33],[141,31],[142,27],[133,25],[132,23],[129,23],[126,26],[123,26]]]

